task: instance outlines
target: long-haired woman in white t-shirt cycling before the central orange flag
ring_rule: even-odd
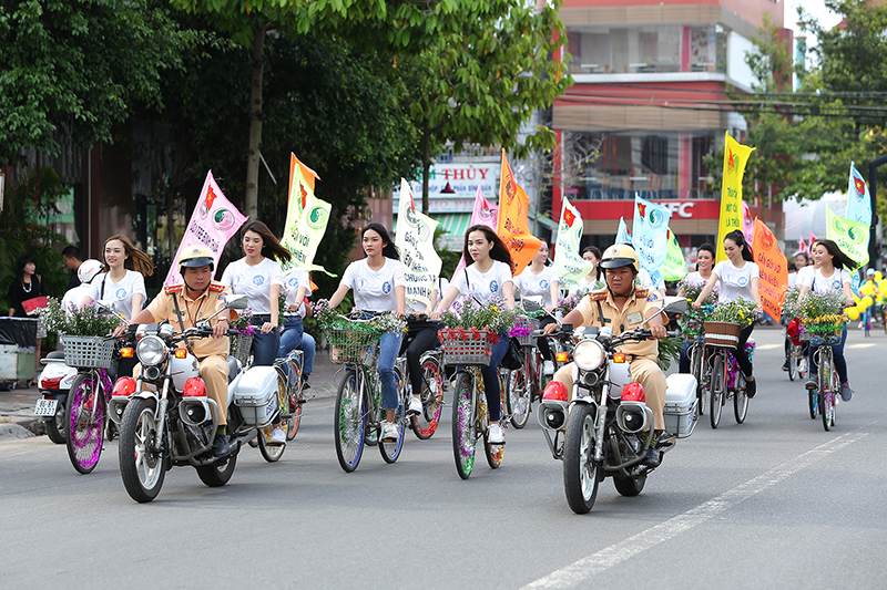
[[[511,255],[502,239],[489,227],[471,226],[465,235],[462,257],[466,267],[452,276],[450,288],[435,311],[435,317],[452,304],[460,294],[471,297],[478,303],[493,299],[504,299],[509,309],[514,309],[514,283],[511,277]],[[490,413],[489,441],[504,444],[506,436],[499,425],[499,363],[508,352],[508,334],[500,333],[499,342],[492,348],[490,365],[481,366],[487,408]]]

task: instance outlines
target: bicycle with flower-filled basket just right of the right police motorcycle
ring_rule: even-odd
[[[712,322],[705,322],[705,355],[708,374],[711,375],[707,382],[708,418],[712,428],[717,428],[721,423],[721,411],[727,400],[732,397],[733,415],[736,418],[736,424],[742,424],[748,414],[748,394],[745,390],[745,375],[738,370],[738,364],[732,353],[732,350],[736,349],[736,342],[730,338],[723,338],[732,334],[718,334],[710,331],[710,323]],[[738,340],[740,324],[734,325],[736,333],[733,338]],[[750,361],[753,359],[754,348],[754,340],[750,339],[745,344],[745,350],[750,353]]]

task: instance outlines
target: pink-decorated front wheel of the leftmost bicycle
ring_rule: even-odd
[[[92,473],[102,454],[104,400],[101,400],[92,373],[80,373],[71,383],[71,393],[68,394],[64,446],[68,447],[71,465],[83,475]]]

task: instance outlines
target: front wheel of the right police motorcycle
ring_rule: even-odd
[[[578,515],[587,514],[598,497],[602,465],[594,463],[594,407],[578,404],[567,418],[563,441],[563,490]]]

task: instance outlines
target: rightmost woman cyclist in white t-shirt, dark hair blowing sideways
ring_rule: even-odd
[[[816,240],[810,246],[813,253],[814,270],[806,272],[803,277],[798,276],[798,284],[801,286],[801,297],[803,298],[810,291],[823,293],[827,291],[837,291],[844,293],[844,304],[850,307],[854,304],[853,290],[850,289],[852,276],[848,269],[856,268],[856,262],[847,255],[845,255],[838,245],[832,240]],[[809,268],[809,267],[807,267]],[[847,342],[847,328],[840,332],[840,342],[832,346],[832,355],[835,360],[835,370],[840,377],[840,397],[845,402],[853,398],[853,390],[850,389],[849,379],[847,375],[847,360],[844,358],[844,344]],[[809,376],[816,374],[816,363],[814,360],[815,349],[810,346],[809,350]],[[807,381],[807,387],[813,386],[816,389],[816,382],[813,380]]]

